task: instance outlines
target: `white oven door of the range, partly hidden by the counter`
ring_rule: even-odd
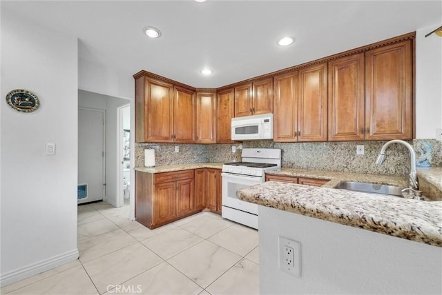
[[[222,174],[222,205],[236,210],[258,215],[258,205],[242,201],[236,196],[236,191],[244,187],[262,183],[264,178],[240,174]]]

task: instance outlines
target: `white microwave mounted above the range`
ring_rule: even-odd
[[[233,141],[273,139],[273,114],[232,118]]]

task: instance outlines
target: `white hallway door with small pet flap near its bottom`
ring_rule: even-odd
[[[104,110],[78,109],[78,204],[101,201],[106,194],[104,118]]]

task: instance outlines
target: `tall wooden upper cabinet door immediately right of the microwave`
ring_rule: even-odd
[[[276,76],[273,83],[273,141],[296,141],[298,72]]]

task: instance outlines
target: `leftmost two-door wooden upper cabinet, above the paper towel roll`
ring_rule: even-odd
[[[135,79],[135,141],[193,143],[195,92],[144,75]]]

